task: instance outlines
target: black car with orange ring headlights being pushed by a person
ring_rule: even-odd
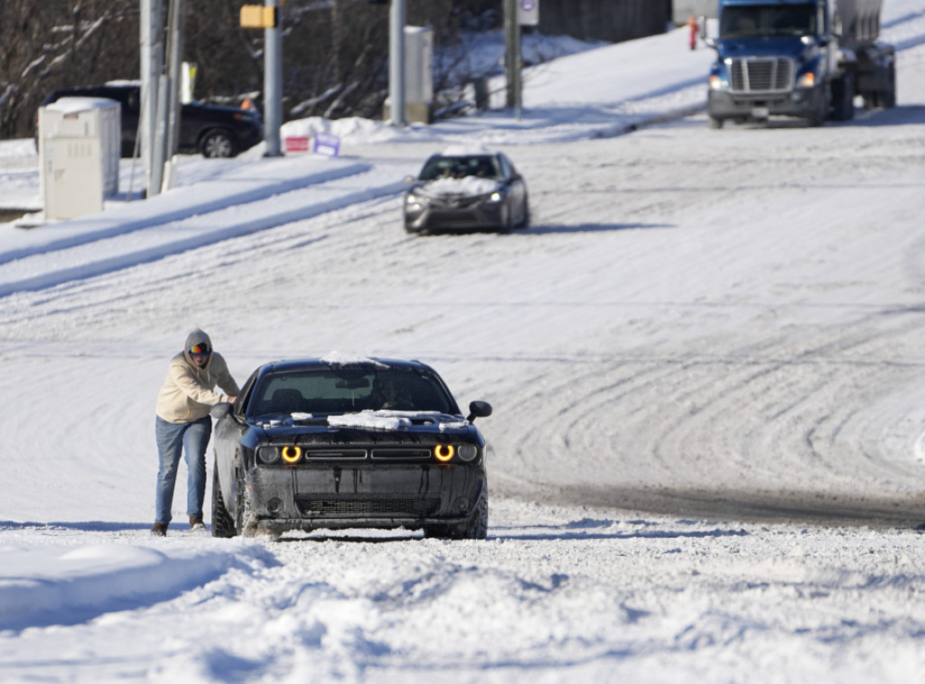
[[[212,534],[423,529],[485,539],[485,439],[419,361],[266,363],[217,404]]]

